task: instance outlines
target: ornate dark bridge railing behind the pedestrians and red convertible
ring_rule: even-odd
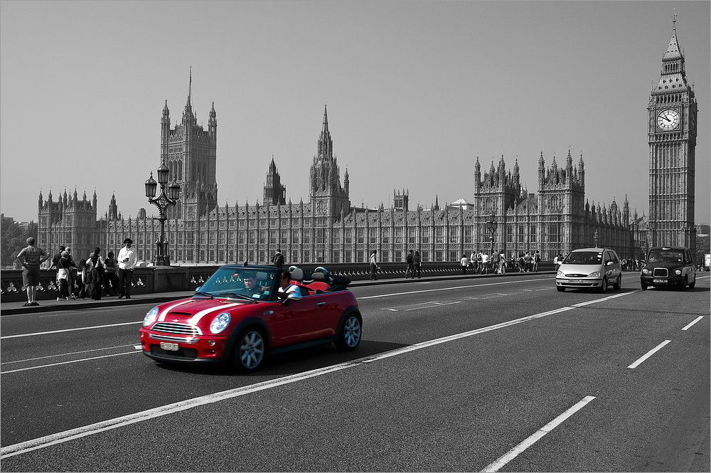
[[[324,266],[334,275],[348,277],[351,281],[368,280],[370,265],[367,263],[306,263],[298,265],[306,272],[312,272],[316,267]],[[383,262],[377,272],[378,279],[395,279],[405,277],[407,263]],[[203,285],[220,265],[205,266],[173,266],[173,267],[137,267],[131,281],[132,294],[149,294],[151,292],[178,292],[195,290]],[[284,268],[289,265],[284,265]],[[542,261],[539,271],[552,271],[552,261]],[[425,262],[419,268],[422,277],[447,276],[461,274],[458,262]],[[506,272],[518,272],[518,265],[506,263]],[[467,274],[472,274],[471,268]],[[37,289],[37,299],[55,299],[59,295],[55,270],[40,270],[40,285]],[[23,289],[22,270],[4,270],[0,275],[0,298],[2,302],[17,302],[26,300]]]

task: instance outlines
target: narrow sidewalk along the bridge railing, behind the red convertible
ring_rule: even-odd
[[[427,276],[422,279],[406,280],[405,277],[383,278],[377,281],[353,281],[348,287],[383,285],[383,284],[408,284],[411,282],[426,282],[426,281],[447,281],[447,280],[468,280],[479,278],[492,277],[507,277],[518,276],[527,277],[533,275],[552,274],[552,271],[542,272],[507,272],[504,275],[444,275],[444,276]],[[38,306],[23,307],[26,301],[20,302],[2,302],[0,303],[0,315],[14,314],[32,314],[36,312],[51,312],[55,310],[81,310],[81,309],[97,309],[100,307],[114,307],[134,304],[161,304],[170,302],[183,297],[191,297],[195,294],[194,291],[181,292],[151,292],[150,294],[135,294],[131,299],[118,299],[117,296],[102,297],[101,300],[95,301],[92,299],[70,299],[68,301],[58,300],[43,300],[38,301]]]

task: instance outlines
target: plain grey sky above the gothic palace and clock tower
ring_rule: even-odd
[[[676,9],[698,102],[696,223],[710,223],[709,1],[0,1],[0,211],[65,189],[157,215],[161,114],[191,87],[218,120],[220,206],[261,203],[274,157],[308,201],[324,105],[351,203],[473,201],[503,155],[585,163],[589,203],[648,214],[647,105]],[[192,83],[190,85],[190,70]]]

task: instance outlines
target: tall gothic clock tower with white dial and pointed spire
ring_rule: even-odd
[[[676,36],[676,11],[661,75],[648,110],[649,235],[652,246],[688,246],[695,254],[697,105]]]

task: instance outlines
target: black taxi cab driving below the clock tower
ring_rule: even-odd
[[[660,246],[649,250],[647,261],[639,275],[642,289],[649,286],[693,288],[696,267],[689,248]]]

